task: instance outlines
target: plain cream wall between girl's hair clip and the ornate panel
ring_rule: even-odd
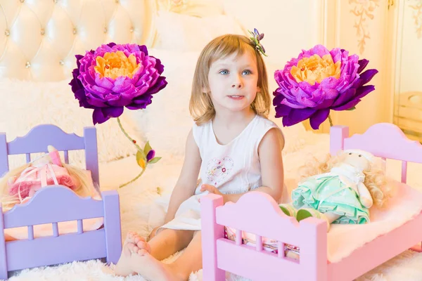
[[[262,44],[271,63],[279,67],[302,48],[321,41],[321,0],[223,0],[224,11],[234,15],[245,29],[265,34]]]

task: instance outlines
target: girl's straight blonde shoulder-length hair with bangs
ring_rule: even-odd
[[[196,63],[195,74],[193,75],[193,84],[191,92],[191,100],[189,103],[189,111],[196,124],[204,124],[215,117],[215,108],[212,104],[210,93],[203,93],[203,89],[209,89],[208,72],[210,67],[219,58],[236,53],[243,55],[245,51],[250,51],[257,58],[258,82],[260,92],[257,93],[255,100],[250,107],[252,110],[262,117],[267,118],[269,115],[269,107],[271,106],[271,98],[268,90],[267,68],[264,60],[255,45],[243,35],[226,34],[217,37],[203,48]]]

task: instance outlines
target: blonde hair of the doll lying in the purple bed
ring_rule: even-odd
[[[74,181],[77,188],[73,190],[77,195],[81,197],[91,196],[91,188],[89,178],[83,169],[79,169],[77,166],[62,163],[63,167],[68,170],[69,176]],[[0,181],[0,202],[6,209],[10,209],[15,204],[19,204],[20,200],[17,195],[9,195],[8,193],[8,180],[12,177],[18,177],[22,172],[27,169],[31,164],[27,163],[11,171],[8,171]]]

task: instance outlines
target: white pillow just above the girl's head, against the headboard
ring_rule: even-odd
[[[159,11],[155,25],[158,43],[154,48],[172,51],[201,51],[208,42],[220,35],[245,34],[238,22],[228,15],[198,18]]]

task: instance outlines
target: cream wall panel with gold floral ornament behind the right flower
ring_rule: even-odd
[[[379,72],[371,80],[376,90],[350,112],[333,112],[333,123],[350,126],[350,133],[362,133],[378,122],[390,122],[392,107],[392,30],[395,9],[388,0],[328,0],[331,37],[328,47],[345,48],[369,60],[366,69]],[[365,115],[365,117],[363,117]]]

